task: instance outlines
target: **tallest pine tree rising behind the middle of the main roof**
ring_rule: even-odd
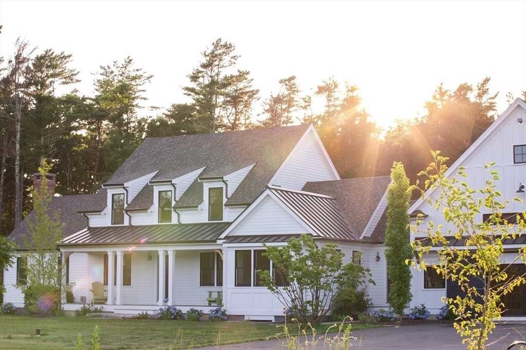
[[[239,58],[234,55],[235,49],[221,38],[214,41],[201,53],[204,60],[188,75],[191,85],[183,88],[185,95],[194,100],[196,125],[205,132],[213,133],[223,126],[223,102],[232,84],[227,72]]]

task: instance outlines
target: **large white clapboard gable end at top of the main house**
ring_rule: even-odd
[[[309,133],[292,151],[269,185],[300,190],[310,181],[335,180],[324,159]]]

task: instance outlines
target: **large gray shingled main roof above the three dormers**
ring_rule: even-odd
[[[242,132],[185,135],[146,139],[105,185],[122,184],[155,171],[152,181],[171,180],[205,167],[200,177],[225,176],[251,164],[226,205],[249,204],[261,193],[309,125]],[[203,184],[196,181],[176,207],[203,201]]]

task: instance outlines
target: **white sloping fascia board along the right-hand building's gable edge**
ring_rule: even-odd
[[[466,162],[467,158],[472,156],[476,151],[478,151],[479,147],[489,139],[489,137],[492,136],[492,134],[497,131],[502,124],[504,124],[508,117],[512,114],[512,112],[515,110],[515,108],[521,108],[523,110],[526,110],[526,102],[521,100],[520,98],[515,99],[512,104],[500,115],[497,117],[497,120],[493,122],[489,126],[486,131],[482,133],[482,135],[479,136],[479,138],[469,146],[469,148],[466,150],[466,152],[462,153],[462,155],[455,161],[449,168],[448,171],[444,174],[447,178],[451,178],[454,174],[457,173],[459,166],[463,165],[464,162]],[[426,191],[425,197],[431,196],[434,192],[438,191],[438,188],[434,189],[433,192],[429,192],[429,190]],[[409,208],[408,213],[411,214],[414,210],[420,209],[420,206],[424,204],[424,199],[422,197],[419,197],[416,202],[413,203],[413,205]]]

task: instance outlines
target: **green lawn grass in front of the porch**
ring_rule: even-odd
[[[100,348],[111,349],[168,349],[235,344],[265,340],[281,332],[275,324],[257,322],[189,322],[163,320],[93,319],[89,317],[49,317],[0,315],[0,348],[4,349],[75,349],[78,334],[84,348],[91,345],[93,328],[99,326]],[[317,327],[325,333],[330,325]],[[353,330],[370,328],[353,325]],[[41,336],[35,336],[41,328]],[[175,343],[178,330],[182,344]]]

